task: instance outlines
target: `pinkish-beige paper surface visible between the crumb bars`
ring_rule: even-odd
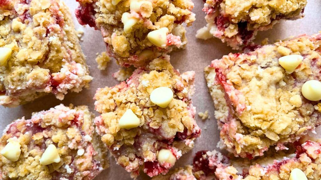
[[[187,29],[188,44],[187,49],[171,53],[171,63],[173,66],[184,72],[187,70],[194,70],[196,72],[195,87],[196,92],[193,97],[194,105],[197,112],[204,112],[209,110],[210,119],[205,121],[196,117],[198,125],[202,128],[201,137],[196,140],[193,151],[183,155],[176,167],[184,164],[190,164],[193,160],[195,152],[199,150],[213,150],[217,149],[216,144],[219,139],[219,131],[217,130],[216,120],[213,116],[214,106],[211,97],[208,93],[206,82],[203,75],[203,69],[209,65],[214,59],[221,58],[223,55],[230,53],[232,50],[225,44],[221,43],[219,39],[198,40],[195,38],[197,29],[203,27],[206,23],[204,20],[205,14],[201,11],[203,8],[202,0],[193,0],[195,3],[194,13],[196,14],[196,21],[192,27]],[[77,7],[75,0],[65,0],[67,2],[72,14]],[[269,42],[276,39],[282,39],[289,36],[296,36],[299,34],[314,34],[321,30],[321,0],[308,0],[308,5],[305,8],[305,17],[296,21],[282,21],[274,26],[272,30],[259,32],[256,42],[261,42],[265,37],[269,38]],[[19,106],[17,108],[0,107],[0,131],[11,121],[25,116],[30,118],[31,113],[40,110],[47,110],[60,103],[68,105],[88,105],[92,112],[94,110],[94,100],[92,99],[95,91],[99,87],[114,86],[118,84],[112,74],[118,70],[115,61],[108,64],[108,68],[104,71],[97,69],[95,61],[96,53],[105,51],[105,44],[101,38],[100,32],[86,26],[82,27],[74,18],[76,29],[82,29],[85,33],[83,41],[81,42],[82,50],[87,56],[87,63],[90,66],[91,76],[94,77],[91,82],[90,89],[83,90],[81,93],[68,93],[65,100],[59,101],[53,95],[40,98],[32,103]],[[97,112],[95,112],[98,115]],[[107,179],[130,179],[129,173],[115,163],[113,158],[110,159],[110,168],[104,170],[95,180]],[[141,175],[138,179],[149,179],[146,175]]]

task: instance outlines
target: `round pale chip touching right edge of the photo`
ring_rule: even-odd
[[[321,82],[317,80],[309,80],[302,86],[302,95],[310,101],[321,100]]]

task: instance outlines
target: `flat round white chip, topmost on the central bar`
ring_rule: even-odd
[[[151,93],[151,101],[161,108],[166,108],[173,100],[173,91],[168,87],[158,87]]]

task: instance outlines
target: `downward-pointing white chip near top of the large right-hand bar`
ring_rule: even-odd
[[[279,64],[285,69],[286,73],[291,74],[303,61],[301,55],[287,55],[279,58]]]

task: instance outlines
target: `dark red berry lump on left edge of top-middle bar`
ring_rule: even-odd
[[[85,6],[79,5],[75,11],[79,24],[93,27],[97,30],[95,22],[95,9],[92,4],[85,4]]]

